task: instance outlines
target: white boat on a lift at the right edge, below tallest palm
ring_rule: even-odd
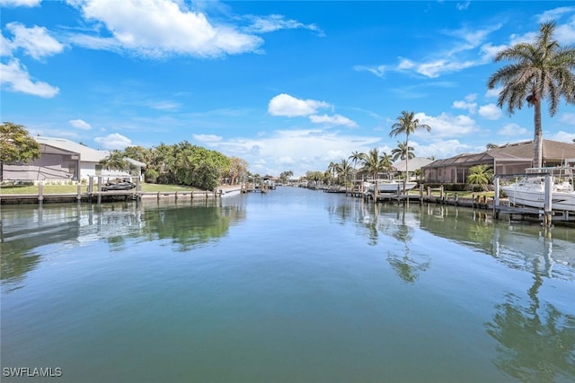
[[[552,210],[575,212],[573,168],[529,168],[526,175],[508,186],[501,186],[509,196],[509,203],[544,208],[545,177],[551,178]]]

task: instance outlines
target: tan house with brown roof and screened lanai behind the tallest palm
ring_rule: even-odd
[[[575,144],[543,140],[543,166],[558,166],[575,158]],[[533,167],[533,141],[505,144],[481,153],[458,154],[431,162],[421,168],[422,177],[431,183],[465,183],[469,168],[488,165],[496,175],[525,173]]]

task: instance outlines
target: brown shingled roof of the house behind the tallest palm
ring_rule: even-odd
[[[575,158],[575,144],[560,141],[543,140],[544,161],[562,161]],[[464,165],[473,166],[481,163],[495,161],[532,161],[533,141],[517,144],[505,144],[481,153],[458,154],[455,157],[438,160],[430,163],[426,168],[441,168],[445,166]]]

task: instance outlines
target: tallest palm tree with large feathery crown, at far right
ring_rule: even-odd
[[[543,165],[543,139],[541,127],[541,100],[549,102],[549,115],[557,112],[561,98],[568,103],[575,103],[575,48],[561,47],[553,39],[555,22],[544,22],[539,28],[535,42],[518,43],[503,49],[493,61],[512,61],[512,64],[501,67],[491,74],[487,87],[503,85],[497,105],[505,105],[509,115],[515,109],[521,109],[524,101],[533,106],[534,140],[533,161],[536,167]]]

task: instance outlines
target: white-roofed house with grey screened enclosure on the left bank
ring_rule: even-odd
[[[110,155],[109,151],[99,151],[66,138],[34,137],[40,144],[40,158],[22,164],[4,164],[4,180],[50,180],[79,181],[91,176],[122,178],[137,175],[141,177],[146,164],[127,159],[133,170],[102,170],[100,161]]]

